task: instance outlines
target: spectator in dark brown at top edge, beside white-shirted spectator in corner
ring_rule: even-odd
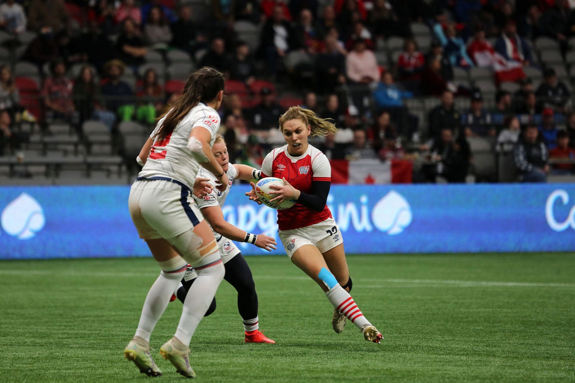
[[[54,32],[66,28],[70,15],[63,0],[32,0],[28,7],[28,27],[40,32],[45,26]]]

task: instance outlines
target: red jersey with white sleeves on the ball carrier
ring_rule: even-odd
[[[308,145],[308,150],[301,156],[287,153],[287,145],[274,149],[267,154],[262,164],[262,178],[285,178],[294,188],[310,194],[312,181],[331,181],[331,165],[325,154]],[[296,203],[293,207],[278,210],[279,230],[299,229],[331,218],[331,211],[325,205],[322,211],[311,210]]]

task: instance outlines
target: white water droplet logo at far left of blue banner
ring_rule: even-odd
[[[26,193],[22,193],[2,211],[2,229],[18,239],[30,239],[44,227],[44,211],[40,204]]]

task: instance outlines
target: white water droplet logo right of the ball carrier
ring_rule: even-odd
[[[392,190],[371,211],[373,224],[389,235],[400,234],[411,223],[411,206],[401,194]]]

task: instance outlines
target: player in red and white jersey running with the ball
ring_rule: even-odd
[[[351,278],[343,249],[342,233],[327,207],[331,167],[327,157],[308,143],[308,137],[336,133],[333,123],[313,111],[292,106],[279,118],[279,129],[286,145],[272,150],[262,164],[262,178],[283,179],[283,186],[272,185],[277,195],[271,203],[296,200],[293,207],[278,210],[279,239],[293,264],[320,285],[333,310],[332,326],[338,334],[346,319],[351,320],[370,342],[383,336],[359,310],[350,296]],[[255,185],[246,195],[259,204]]]

